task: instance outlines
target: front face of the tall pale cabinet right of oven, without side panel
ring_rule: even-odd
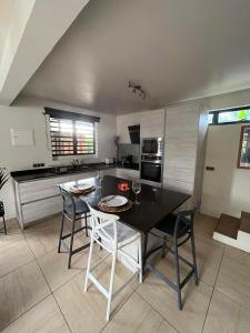
[[[171,107],[166,114],[164,186],[193,193],[198,150],[199,104]]]

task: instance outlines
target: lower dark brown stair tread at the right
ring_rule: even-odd
[[[221,214],[214,232],[237,240],[240,223],[240,219],[227,214]]]

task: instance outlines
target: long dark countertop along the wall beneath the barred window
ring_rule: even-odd
[[[28,181],[34,181],[40,179],[63,176],[63,175],[78,174],[84,172],[94,172],[99,170],[109,170],[113,168],[139,170],[139,164],[122,167],[120,163],[116,163],[116,164],[89,163],[89,164],[79,165],[78,168],[74,169],[72,169],[71,165],[60,165],[60,167],[50,167],[50,168],[42,168],[42,169],[12,171],[10,172],[10,175],[17,182],[28,182]]]

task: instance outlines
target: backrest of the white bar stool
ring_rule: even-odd
[[[88,203],[87,203],[88,204]],[[120,219],[114,214],[107,214],[94,210],[88,204],[90,210],[90,225],[92,233],[98,235],[101,241],[107,243],[107,246],[117,244],[117,221]],[[109,230],[109,232],[107,232]]]

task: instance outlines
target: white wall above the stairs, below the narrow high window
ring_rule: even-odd
[[[201,211],[219,216],[221,213],[240,216],[250,211],[250,171],[237,169],[241,124],[209,127]]]

